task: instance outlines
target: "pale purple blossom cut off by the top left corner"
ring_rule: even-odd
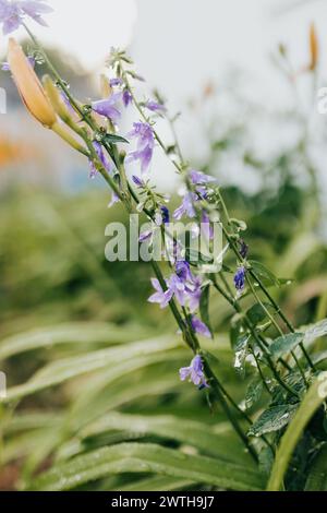
[[[26,16],[40,25],[47,26],[44,14],[52,12],[45,0],[0,0],[0,23],[4,35],[16,31]]]

